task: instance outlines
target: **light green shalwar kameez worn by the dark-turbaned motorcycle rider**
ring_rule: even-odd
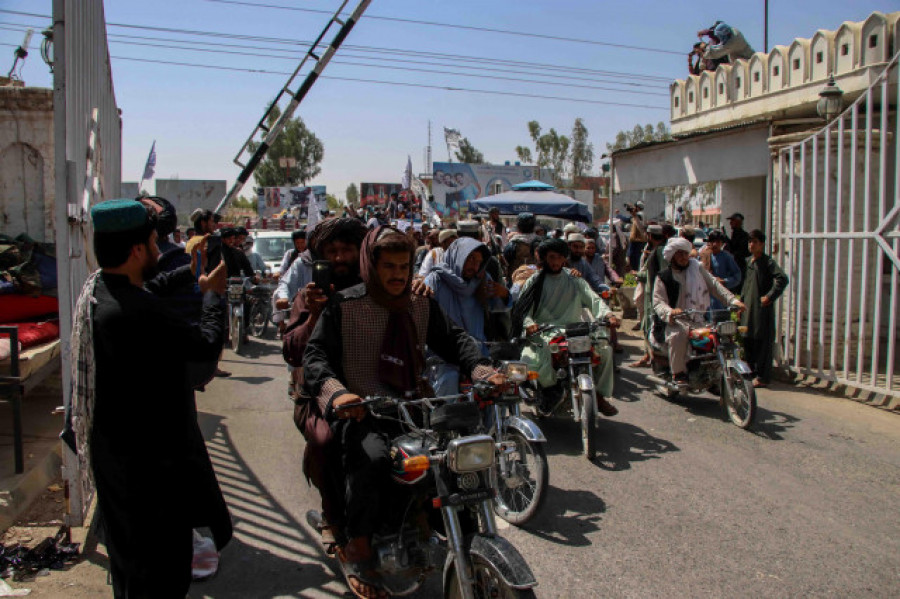
[[[537,277],[531,277],[522,287],[522,295],[534,285]],[[606,302],[591,291],[584,279],[573,277],[563,271],[558,275],[547,273],[544,279],[544,288],[541,291],[540,303],[537,312],[529,312],[525,316],[524,325],[532,324],[557,324],[565,326],[569,323],[580,322],[583,310],[587,308],[596,320],[600,320],[610,313]],[[529,367],[538,372],[538,382],[541,387],[550,387],[556,383],[556,373],[550,356],[550,339],[557,331],[546,331],[539,337],[542,343],[539,347],[527,346],[522,352],[522,359]],[[600,349],[602,363],[600,367],[594,367],[594,387],[597,393],[604,397],[611,397],[613,393],[613,353],[612,347],[606,343]]]

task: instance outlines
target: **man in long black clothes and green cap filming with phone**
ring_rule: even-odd
[[[215,360],[222,347],[225,269],[201,276],[203,313],[191,326],[148,292],[164,294],[192,281],[192,266],[202,268],[195,262],[151,280],[155,211],[110,200],[91,209],[91,220],[100,270],[74,314],[74,441],[93,472],[114,596],[184,597],[193,529],[210,527],[219,548],[232,532],[186,366]]]

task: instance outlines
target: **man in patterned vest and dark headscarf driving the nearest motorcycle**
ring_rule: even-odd
[[[502,384],[475,341],[433,299],[413,295],[413,245],[392,227],[370,231],[360,248],[363,283],[337,292],[319,317],[303,359],[304,392],[332,424],[334,472],[345,490],[342,509],[326,516],[338,535],[338,557],[357,596],[386,596],[373,572],[376,531],[390,481],[390,438],[399,424],[376,420],[354,404],[367,395],[429,394],[422,381],[426,344],[474,380]],[[344,541],[344,538],[347,540]]]

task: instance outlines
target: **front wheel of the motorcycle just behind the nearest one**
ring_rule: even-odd
[[[543,443],[532,443],[516,430],[508,430],[502,440],[515,443],[516,450],[505,458],[506,477],[498,465],[491,470],[491,483],[497,490],[494,512],[510,524],[521,526],[534,517],[547,495],[547,452]]]

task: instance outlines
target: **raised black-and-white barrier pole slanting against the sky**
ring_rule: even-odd
[[[328,65],[329,61],[334,56],[334,53],[337,52],[338,48],[341,47],[341,44],[344,42],[344,39],[346,39],[347,35],[353,29],[354,25],[356,25],[356,23],[359,22],[359,19],[362,17],[363,13],[366,11],[366,8],[369,7],[369,4],[371,4],[371,2],[372,2],[372,0],[361,0],[360,3],[357,5],[356,10],[354,10],[353,13],[350,15],[350,17],[347,18],[346,20],[340,19],[340,14],[344,10],[344,7],[347,5],[347,0],[344,0],[344,2],[341,3],[341,6],[338,8],[338,10],[335,12],[334,16],[331,18],[331,20],[328,22],[328,24],[322,30],[322,33],[320,33],[319,37],[316,38],[316,41],[314,41],[312,43],[312,45],[310,46],[306,55],[303,57],[303,60],[300,62],[300,64],[294,70],[291,77],[288,79],[287,84],[284,86],[284,88],[282,88],[281,92],[279,92],[278,96],[275,98],[275,100],[272,102],[272,104],[268,107],[268,109],[266,110],[266,113],[260,119],[259,123],[257,123],[256,128],[250,134],[250,137],[248,137],[247,140],[244,142],[244,145],[241,146],[241,149],[238,152],[238,155],[235,157],[235,160],[234,160],[235,164],[242,167],[241,174],[238,175],[238,178],[234,182],[234,185],[231,187],[231,189],[228,191],[228,193],[225,194],[225,197],[222,198],[222,201],[219,202],[219,205],[216,206],[216,210],[215,210],[216,213],[221,212],[225,208],[225,206],[227,206],[229,202],[234,200],[234,198],[236,198],[237,195],[241,192],[241,189],[243,189],[244,184],[246,184],[247,181],[250,179],[250,177],[253,175],[253,171],[256,170],[256,167],[259,166],[259,163],[262,161],[263,158],[265,158],[266,152],[269,151],[269,148],[272,146],[272,144],[275,142],[275,140],[278,138],[278,136],[284,130],[285,125],[294,116],[294,112],[297,110],[297,106],[299,106],[300,102],[303,101],[303,98],[306,97],[306,94],[312,88],[313,84],[315,84],[316,80],[318,80],[319,76],[322,74],[322,71],[325,70],[325,67]],[[331,26],[334,23],[337,23],[341,26],[340,30],[338,30],[337,34],[334,36],[334,39],[331,41],[331,44],[328,46],[328,48],[326,48],[326,50],[322,54],[322,56],[321,57],[317,56],[316,52],[318,50],[320,42],[322,41],[322,38],[325,37],[325,35],[328,33],[328,30],[331,28]],[[300,87],[297,89],[297,91],[293,92],[293,93],[290,92],[288,90],[288,87],[291,85],[291,83],[296,78],[297,74],[303,68],[303,65],[306,64],[307,60],[310,60],[310,59],[315,61],[315,63],[316,63],[315,66],[312,68],[312,70],[309,72],[309,74],[306,75],[305,79],[303,80],[303,83],[300,84]],[[291,101],[287,105],[287,107],[285,108],[285,110],[281,114],[281,116],[278,118],[278,120],[275,122],[275,124],[272,125],[271,127],[269,127],[266,124],[267,119],[268,119],[269,115],[271,114],[272,110],[274,110],[276,108],[276,106],[278,105],[278,101],[281,99],[281,97],[284,94],[290,95]],[[253,139],[256,136],[256,134],[259,132],[263,132],[265,134],[265,138],[252,151],[253,153],[250,156],[250,159],[246,162],[246,164],[242,163],[240,161],[240,157],[244,154],[245,150],[250,151],[249,150],[250,145],[253,142]]]

